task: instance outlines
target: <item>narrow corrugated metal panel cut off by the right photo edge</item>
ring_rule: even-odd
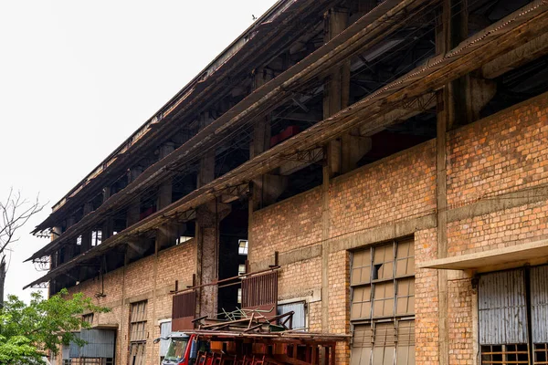
[[[532,342],[548,342],[548,266],[531,269]]]

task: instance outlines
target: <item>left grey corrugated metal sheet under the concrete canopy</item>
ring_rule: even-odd
[[[527,308],[522,270],[479,277],[479,343],[527,343]]]

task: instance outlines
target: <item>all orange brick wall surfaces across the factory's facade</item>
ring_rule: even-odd
[[[448,211],[469,209],[465,212],[469,217],[448,222],[448,255],[548,237],[548,197],[492,209],[487,214],[473,214],[475,203],[496,201],[502,193],[526,192],[548,183],[547,116],[548,94],[545,94],[448,133]],[[436,222],[436,159],[436,141],[427,141],[334,179],[326,197],[329,208],[324,213],[328,217],[326,227],[322,227],[321,187],[255,212],[249,227],[251,265],[270,260],[275,251],[288,253],[321,245],[319,254],[316,251],[302,261],[281,267],[279,299],[310,300],[311,330],[349,333],[350,252],[330,251],[330,247],[358,233],[371,243],[374,229],[412,222],[417,217],[432,216],[432,222]],[[439,275],[437,270],[418,268],[438,256],[436,224],[417,227],[411,234],[415,237],[416,253],[416,363],[437,364]],[[397,237],[395,230],[393,235]],[[322,266],[323,259],[327,267]],[[328,273],[327,291],[321,290],[324,269]],[[112,308],[111,313],[97,315],[94,324],[119,326],[120,364],[127,363],[129,301],[132,297],[146,297],[149,300],[147,363],[155,363],[158,346],[153,345],[153,339],[159,335],[158,319],[171,315],[171,296],[163,288],[173,286],[174,280],[184,285],[190,283],[194,272],[195,242],[190,241],[105,275],[105,297],[96,297],[101,291],[99,279],[81,283],[72,290],[81,290],[94,297],[97,304]],[[450,277],[446,308],[449,363],[469,364],[476,340],[472,331],[474,293],[470,279]],[[321,299],[327,298],[327,322],[322,326]],[[337,363],[348,363],[349,354],[347,344],[338,344]]]

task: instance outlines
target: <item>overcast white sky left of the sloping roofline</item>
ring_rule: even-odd
[[[44,275],[23,260],[53,203],[275,0],[0,0],[0,196],[47,209],[8,255],[6,294]]]

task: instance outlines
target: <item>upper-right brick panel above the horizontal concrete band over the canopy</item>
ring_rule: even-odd
[[[548,183],[548,93],[449,134],[449,206],[542,183]]]

